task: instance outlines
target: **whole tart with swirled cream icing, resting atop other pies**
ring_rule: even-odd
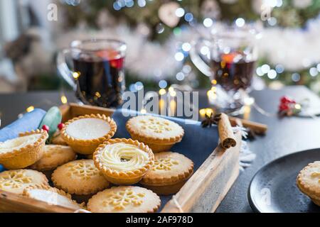
[[[114,184],[135,184],[151,167],[151,149],[132,139],[114,139],[100,145],[93,155],[95,166]]]

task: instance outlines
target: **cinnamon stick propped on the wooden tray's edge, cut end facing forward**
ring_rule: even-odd
[[[226,114],[220,115],[220,121],[218,122],[218,132],[223,148],[228,149],[237,145],[235,135],[233,134],[233,129]]]

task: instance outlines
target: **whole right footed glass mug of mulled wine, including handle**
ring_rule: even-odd
[[[256,39],[255,30],[232,27],[193,43],[191,60],[215,87],[209,101],[217,109],[232,112],[244,105],[257,60]]]

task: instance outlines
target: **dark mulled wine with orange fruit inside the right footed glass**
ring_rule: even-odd
[[[240,54],[221,55],[211,62],[214,79],[225,91],[247,90],[251,86],[255,61],[247,61]]]

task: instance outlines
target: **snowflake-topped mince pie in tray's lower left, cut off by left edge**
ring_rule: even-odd
[[[8,170],[0,173],[1,190],[23,194],[23,190],[31,186],[48,187],[48,179],[36,170]]]

